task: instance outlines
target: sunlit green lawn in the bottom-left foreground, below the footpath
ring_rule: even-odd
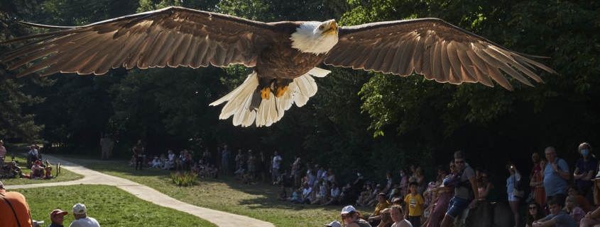
[[[197,216],[144,201],[114,186],[70,185],[9,191],[21,192],[25,196],[31,217],[36,221],[45,221],[43,226],[52,223],[50,212],[54,209],[69,212],[62,223],[69,226],[75,221],[72,208],[77,203],[85,204],[87,214],[103,227],[215,226]]]

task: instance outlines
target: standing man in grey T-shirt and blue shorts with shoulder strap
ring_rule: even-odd
[[[454,188],[454,197],[450,199],[448,211],[446,212],[446,216],[444,216],[444,220],[442,220],[442,227],[451,226],[454,223],[454,219],[464,209],[467,209],[469,206],[475,206],[477,199],[474,198],[479,198],[475,170],[465,162],[465,155],[462,151],[454,153],[454,163],[457,165],[457,169],[459,169],[459,174],[462,173],[460,176],[461,184],[459,187]],[[473,197],[471,197],[471,194]]]

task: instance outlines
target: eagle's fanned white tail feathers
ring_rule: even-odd
[[[329,72],[319,68],[311,69],[307,74],[295,78],[288,85],[288,90],[283,93],[283,96],[277,98],[271,92],[268,100],[261,99],[258,109],[250,107],[253,95],[258,94],[255,93],[258,88],[258,75],[253,72],[238,88],[210,105],[219,105],[228,101],[223,107],[219,119],[227,119],[234,115],[233,123],[236,126],[248,127],[256,122],[257,127],[269,127],[274,122],[278,122],[283,117],[285,110],[289,110],[294,103],[298,107],[302,107],[312,95],[317,93],[317,83],[312,76],[323,77],[327,76]],[[272,88],[271,91],[273,90]]]

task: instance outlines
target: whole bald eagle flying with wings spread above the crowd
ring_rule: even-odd
[[[428,80],[459,84],[491,78],[512,91],[502,71],[533,86],[514,68],[543,83],[528,68],[555,71],[437,18],[339,26],[336,21],[263,23],[182,7],[168,7],[80,27],[23,23],[59,31],[18,37],[1,44],[32,40],[9,52],[6,62],[25,55],[9,70],[40,57],[18,76],[46,69],[62,73],[105,74],[111,68],[228,66],[254,67],[241,86],[210,105],[228,102],[219,115],[233,124],[270,126],[294,103],[301,107],[317,92],[324,64],[386,74],[422,74]],[[8,55],[8,54],[7,54]],[[490,78],[491,77],[491,78]]]

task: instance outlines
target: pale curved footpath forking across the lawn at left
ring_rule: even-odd
[[[64,161],[60,158],[53,156],[44,155],[44,159],[48,159],[50,163],[60,162],[60,167],[84,175],[80,180],[73,180],[67,182],[52,182],[52,183],[41,183],[33,185],[4,185],[7,190],[19,189],[19,188],[31,188],[31,187],[48,187],[48,186],[60,186],[60,185],[111,185],[119,187],[121,190],[125,190],[136,197],[152,202],[159,206],[165,206],[178,211],[183,211],[188,214],[199,217],[210,221],[217,226],[274,226],[272,223],[253,219],[247,216],[241,216],[237,214],[229,214],[223,211],[215,211],[213,209],[207,209],[200,206],[194,206],[181,202],[177,199],[168,197],[166,194],[160,193],[151,187],[141,185],[131,180],[126,180],[121,177],[114,177],[99,173],[89,168],[85,168],[82,165],[77,165],[68,161]]]

